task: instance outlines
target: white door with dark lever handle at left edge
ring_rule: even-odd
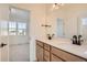
[[[0,4],[0,61],[9,61],[9,37],[8,37],[9,8]]]

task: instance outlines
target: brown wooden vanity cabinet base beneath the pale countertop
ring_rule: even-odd
[[[36,58],[39,62],[86,62],[86,58],[36,41]]]

